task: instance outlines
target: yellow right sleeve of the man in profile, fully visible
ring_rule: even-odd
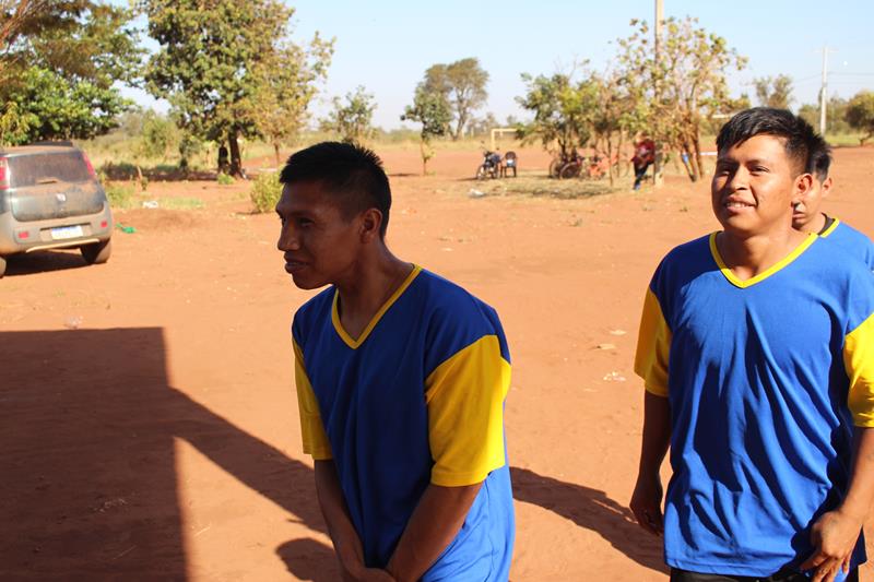
[[[482,483],[504,466],[504,399],[510,364],[496,335],[486,335],[440,364],[425,380],[430,482],[444,487]]]

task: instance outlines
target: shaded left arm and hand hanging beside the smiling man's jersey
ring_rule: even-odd
[[[643,437],[640,446],[640,465],[637,484],[631,494],[630,508],[640,526],[651,534],[661,535],[662,482],[659,471],[671,443],[671,404],[664,396],[649,390],[643,396]]]

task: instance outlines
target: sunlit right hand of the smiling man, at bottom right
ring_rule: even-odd
[[[801,565],[802,570],[816,569],[813,582],[831,582],[840,570],[849,572],[850,558],[862,531],[864,519],[840,509],[823,514],[811,528],[813,556]]]

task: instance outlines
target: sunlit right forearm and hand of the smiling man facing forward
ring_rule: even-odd
[[[835,511],[823,514],[811,530],[813,556],[801,565],[815,568],[813,582],[835,580],[850,568],[850,558],[874,501],[874,428],[855,428],[850,488]]]

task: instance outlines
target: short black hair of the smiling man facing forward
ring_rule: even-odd
[[[753,107],[732,117],[717,136],[719,153],[756,135],[773,135],[784,141],[786,153],[802,171],[810,171],[811,154],[822,138],[813,127],[788,109]]]

